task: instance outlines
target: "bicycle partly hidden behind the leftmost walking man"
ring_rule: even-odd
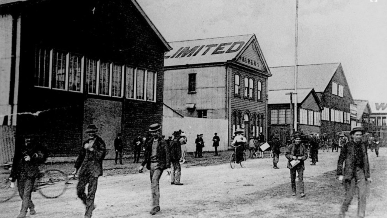
[[[17,195],[17,180],[9,180],[10,167],[0,170],[0,203],[8,201]],[[68,177],[61,170],[50,169],[39,172],[33,191],[38,191],[43,197],[57,198],[65,193]]]

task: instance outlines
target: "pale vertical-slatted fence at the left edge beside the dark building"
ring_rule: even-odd
[[[14,158],[16,126],[0,125],[0,165]]]

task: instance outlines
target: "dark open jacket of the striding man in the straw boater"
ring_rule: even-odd
[[[142,161],[141,165],[145,166],[148,170],[151,170],[151,155],[152,155],[152,145],[153,145],[153,137],[149,138],[145,142],[145,151],[144,151],[144,161]],[[161,170],[165,170],[166,168],[171,168],[171,160],[170,160],[170,151],[167,146],[167,143],[164,139],[159,137],[157,144],[157,159],[159,160],[159,167]]]

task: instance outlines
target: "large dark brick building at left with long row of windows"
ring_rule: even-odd
[[[73,156],[87,124],[110,149],[122,132],[128,149],[162,122],[171,48],[135,0],[6,0],[0,24],[3,124],[17,140],[35,134]]]

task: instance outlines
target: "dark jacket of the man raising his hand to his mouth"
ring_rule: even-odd
[[[92,148],[93,151],[85,149],[85,144],[89,143],[89,139],[83,142],[82,148],[80,148],[79,156],[75,161],[75,168],[79,170],[79,175],[85,175],[90,173],[93,177],[99,177],[102,175],[102,161],[106,154],[106,145],[101,137],[96,136]]]

